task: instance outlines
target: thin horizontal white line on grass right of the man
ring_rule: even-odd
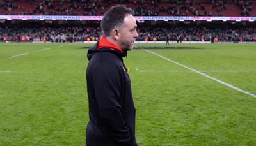
[[[191,71],[184,71],[184,70],[139,70],[140,72],[191,72]],[[250,70],[208,70],[208,71],[199,71],[199,72],[250,72]]]

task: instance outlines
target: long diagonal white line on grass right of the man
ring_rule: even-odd
[[[145,50],[145,49],[143,49],[143,50]],[[155,52],[151,52],[151,51],[149,51],[149,50],[145,50],[145,51],[150,52],[151,54],[157,55],[158,57],[161,57],[161,58],[165,59],[166,61],[173,62],[173,63],[175,63],[175,64],[178,64],[179,66],[182,66],[183,68],[189,69],[189,70],[191,70],[191,71],[193,71],[193,72],[195,72],[195,73],[198,73],[198,74],[200,74],[200,75],[203,75],[204,77],[211,78],[212,80],[215,80],[216,82],[219,82],[219,83],[221,83],[221,84],[223,84],[223,85],[227,85],[228,87],[230,87],[230,88],[232,88],[232,89],[235,89],[235,90],[237,90],[237,91],[243,92],[244,94],[250,95],[250,96],[252,96],[253,98],[256,98],[256,95],[255,95],[255,94],[252,94],[252,93],[250,93],[250,92],[247,92],[247,91],[244,91],[244,90],[242,90],[242,89],[239,89],[239,88],[235,87],[234,85],[227,84],[227,83],[225,83],[225,82],[223,82],[223,81],[221,81],[221,80],[218,80],[218,79],[213,78],[213,77],[211,77],[211,76],[209,76],[209,75],[206,75],[206,74],[204,74],[204,73],[201,73],[200,71],[196,71],[196,70],[193,69],[193,68],[189,68],[188,66],[184,66],[183,64],[180,64],[179,62],[172,61],[171,59],[168,59],[168,58],[163,57],[163,56],[161,56],[161,55],[159,55],[159,54],[156,54]]]

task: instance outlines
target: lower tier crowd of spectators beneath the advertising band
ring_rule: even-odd
[[[216,24],[168,26],[138,26],[139,37],[136,41],[256,41],[254,26],[220,26]],[[102,35],[100,26],[1,26],[0,41],[97,41]]]

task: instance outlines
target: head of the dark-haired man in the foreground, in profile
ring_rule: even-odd
[[[132,50],[133,43],[138,38],[134,11],[123,5],[111,7],[101,21],[104,36],[115,43],[123,51]]]

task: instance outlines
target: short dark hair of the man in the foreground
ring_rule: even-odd
[[[124,18],[129,14],[134,15],[134,11],[124,5],[118,4],[109,8],[100,22],[104,35],[110,36],[113,29],[121,29],[122,24],[124,23]]]

